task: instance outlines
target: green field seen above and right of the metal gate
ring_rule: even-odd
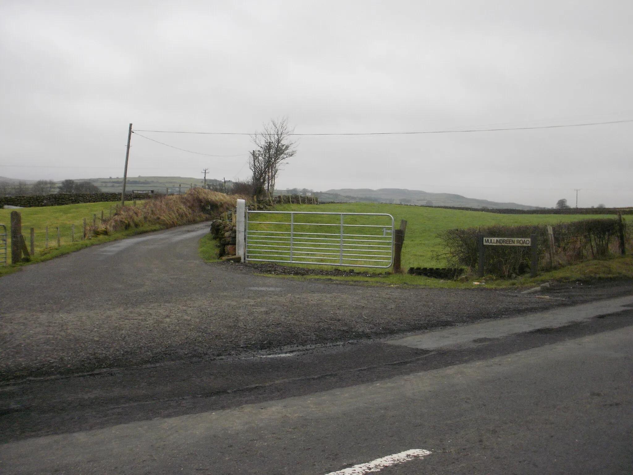
[[[594,218],[588,215],[502,215],[478,211],[445,210],[425,206],[387,205],[375,203],[342,203],[326,205],[278,205],[277,211],[315,211],[347,213],[389,213],[396,220],[408,222],[402,254],[402,267],[442,267],[432,257],[434,251],[442,251],[437,234],[456,227],[476,227],[493,224],[556,224]],[[615,217],[601,215],[601,218]]]

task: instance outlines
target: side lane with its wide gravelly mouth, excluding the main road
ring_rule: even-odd
[[[382,338],[630,292],[578,284],[547,300],[260,277],[202,262],[206,231],[145,234],[1,277],[0,381]]]

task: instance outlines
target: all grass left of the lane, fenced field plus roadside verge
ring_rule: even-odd
[[[141,203],[137,201],[137,205]],[[110,215],[110,210],[115,212],[116,202],[106,201],[103,203],[81,203],[77,205],[63,206],[41,206],[37,208],[22,208],[18,210],[0,209],[0,224],[4,224],[9,232],[11,223],[11,212],[18,211],[22,215],[22,234],[30,247],[30,228],[35,231],[35,256],[32,262],[40,262],[49,258],[57,257],[72,251],[76,251],[92,244],[105,243],[114,239],[124,238],[139,232],[160,229],[156,226],[147,226],[128,231],[117,232],[112,236],[98,236],[97,238],[82,240],[84,218],[88,224],[96,215],[97,223],[101,220],[101,212],[104,217]],[[125,203],[132,205],[132,201]],[[72,226],[75,225],[75,238],[72,238]],[[46,245],[46,227],[48,226],[48,246]],[[57,245],[57,228],[60,229],[60,246]],[[7,260],[11,260],[11,240],[9,239],[9,250]],[[15,267],[3,267],[0,265],[0,276],[15,270]]]

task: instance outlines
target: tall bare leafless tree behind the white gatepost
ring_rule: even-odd
[[[294,129],[290,129],[288,118],[283,117],[270,120],[261,132],[251,136],[255,149],[251,152],[249,167],[253,172],[254,194],[265,191],[270,195],[275,190],[279,167],[297,153],[296,142],[291,140],[292,132]]]

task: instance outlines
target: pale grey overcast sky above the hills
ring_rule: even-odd
[[[633,119],[633,2],[0,1],[0,175],[122,176],[134,129],[298,133]],[[299,137],[278,187],[632,206],[633,122]],[[128,175],[249,175],[248,136],[139,132]]]

